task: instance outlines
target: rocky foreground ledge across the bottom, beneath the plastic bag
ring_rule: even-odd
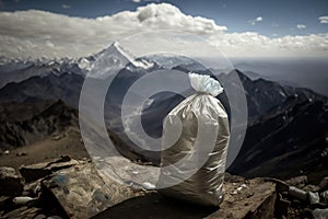
[[[325,217],[327,205],[321,196],[327,189],[327,178],[319,186],[306,184],[306,176],[285,183],[226,174],[224,201],[220,208],[208,208],[169,199],[142,186],[119,184],[102,175],[89,160],[62,157],[22,166],[20,173],[1,168],[0,216],[24,219]]]

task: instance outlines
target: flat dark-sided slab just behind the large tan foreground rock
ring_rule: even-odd
[[[51,162],[22,166],[20,168],[20,173],[25,178],[25,182],[32,182],[50,175],[55,171],[70,168],[75,164],[78,164],[77,160],[72,160],[70,157],[66,155]]]

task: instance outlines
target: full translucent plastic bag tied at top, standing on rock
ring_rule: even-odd
[[[189,73],[189,79],[197,93],[164,120],[159,187],[166,196],[219,206],[230,140],[227,114],[214,97],[223,88],[209,76]]]

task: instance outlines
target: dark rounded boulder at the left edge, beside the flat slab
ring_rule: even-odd
[[[12,168],[0,168],[0,196],[15,196],[23,192],[22,177]]]

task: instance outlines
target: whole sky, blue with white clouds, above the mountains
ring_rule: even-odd
[[[201,36],[229,57],[325,58],[328,1],[0,0],[0,56],[11,58],[87,56],[156,30]]]

